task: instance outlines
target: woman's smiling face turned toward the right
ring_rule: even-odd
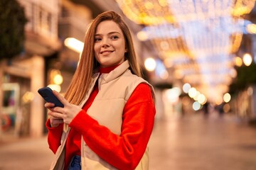
[[[95,58],[100,67],[110,67],[124,62],[127,52],[122,30],[114,21],[102,21],[95,33]]]

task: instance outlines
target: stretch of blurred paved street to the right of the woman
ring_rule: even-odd
[[[255,170],[256,128],[218,115],[156,122],[152,170]]]

